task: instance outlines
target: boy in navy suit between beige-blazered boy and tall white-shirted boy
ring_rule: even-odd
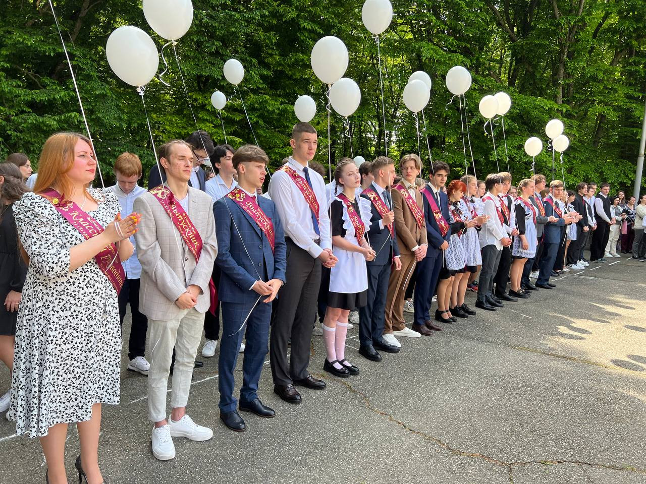
[[[270,199],[257,196],[269,159],[255,145],[239,148],[233,156],[238,186],[213,205],[220,266],[218,297],[222,305],[222,342],[218,370],[220,419],[231,430],[246,426],[233,397],[238,350],[247,345],[242,364],[243,383],[238,408],[260,417],[275,416],[258,399],[258,381],[267,355],[272,301],[285,283],[286,245],[280,218]]]

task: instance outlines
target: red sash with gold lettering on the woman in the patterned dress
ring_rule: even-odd
[[[76,228],[85,240],[96,237],[105,230],[94,217],[83,212],[76,203],[71,200],[63,201],[61,194],[53,188],[50,188],[47,192],[43,192],[41,196],[49,200],[52,205],[54,205],[54,208],[58,210],[58,213],[61,214],[63,218],[72,225],[72,227]],[[123,270],[123,266],[121,265],[121,259],[119,258],[116,244],[112,243],[103,248],[101,252],[94,256],[94,261],[96,261],[96,265],[99,266],[101,272],[105,274],[105,277],[108,278],[110,284],[114,287],[114,290],[119,294],[123,287],[125,270]]]

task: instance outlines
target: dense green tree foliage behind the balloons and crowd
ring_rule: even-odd
[[[125,150],[152,166],[141,97],[114,76],[105,43],[121,25],[143,28],[159,48],[165,41],[130,0],[65,0],[54,6],[103,172],[110,177],[112,161]],[[386,142],[389,156],[397,159],[417,152],[419,139],[428,170],[427,134],[433,159],[448,161],[458,176],[464,172],[461,117],[457,98],[450,103],[444,76],[452,66],[463,65],[474,79],[466,93],[466,119],[478,175],[496,170],[496,163],[477,104],[482,96],[504,90],[512,97],[505,131],[515,179],[530,174],[525,140],[545,139],[545,123],[559,117],[571,145],[563,165],[556,159],[555,177],[561,177],[562,166],[568,186],[581,179],[632,185],[646,90],[641,0],[394,2],[393,23],[380,37],[385,126],[377,45],[361,23],[361,6],[358,0],[194,0],[193,26],[176,50],[198,126],[224,142],[222,123],[209,101],[219,89],[230,98],[222,111],[229,143],[253,143],[242,94],[258,143],[275,169],[289,154],[289,132],[297,121],[293,103],[309,94],[318,106],[313,121],[321,135],[318,161],[326,163],[329,156],[334,164],[351,154],[370,159],[384,154]],[[22,151],[36,161],[47,136],[82,131],[83,121],[47,0],[4,1],[0,18],[0,156]],[[347,127],[331,113],[329,152],[328,87],[309,64],[312,46],[324,35],[346,43],[346,76],[362,90],[361,105]],[[145,91],[155,143],[195,129],[172,52],[172,46],[164,50],[169,63],[164,79],[171,86],[154,79]],[[245,67],[236,92],[222,74],[231,57]],[[401,99],[415,70],[425,70],[433,80],[424,112],[426,132],[419,119],[419,138],[415,118]],[[494,136],[499,166],[506,169],[500,121]],[[470,166],[468,145],[466,151]],[[537,170],[551,176],[551,152],[544,150],[536,163]]]

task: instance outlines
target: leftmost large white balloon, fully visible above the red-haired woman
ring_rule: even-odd
[[[131,86],[147,85],[160,63],[151,36],[132,25],[121,26],[110,34],[105,56],[114,74]]]

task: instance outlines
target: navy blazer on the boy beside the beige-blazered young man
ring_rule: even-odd
[[[251,287],[258,275],[262,278],[266,274],[267,280],[285,280],[287,249],[280,217],[273,201],[268,198],[259,196],[258,205],[273,222],[274,252],[258,224],[232,199],[222,197],[213,204],[218,237],[215,263],[222,270],[218,287],[220,301],[253,304],[258,293]]]

